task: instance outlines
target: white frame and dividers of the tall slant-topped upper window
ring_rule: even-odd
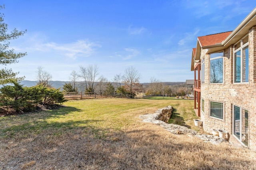
[[[234,53],[233,53],[233,73],[235,73],[235,53],[237,52],[237,51],[239,51],[240,50],[240,53],[241,53],[241,59],[240,59],[240,67],[242,68],[243,66],[242,66],[242,64],[243,64],[243,60],[242,60],[242,51],[243,51],[243,48],[244,47],[246,47],[246,46],[248,46],[248,51],[250,51],[250,47],[249,47],[249,41],[247,42],[247,43],[245,43],[245,44],[243,44],[243,39],[246,37],[246,36],[248,36],[248,34],[246,34],[244,37],[242,37],[242,39],[240,39],[237,43],[235,43],[234,44],[234,46],[233,46],[233,51],[234,51]],[[249,39],[249,37],[248,37],[248,39]],[[238,43],[240,43],[240,47],[238,48],[238,49],[236,49],[235,50],[235,45],[237,45]],[[249,55],[249,54],[248,54]],[[249,55],[250,56],[250,55]],[[248,61],[249,62],[249,61]],[[240,82],[235,82],[235,74],[233,74],[233,83],[234,84],[248,84],[249,83],[249,80],[248,80],[248,82],[242,82],[242,69],[240,68]],[[248,70],[250,70],[250,64],[248,64]],[[250,76],[250,73],[248,73],[249,75],[248,75],[248,79],[249,79],[249,76]]]

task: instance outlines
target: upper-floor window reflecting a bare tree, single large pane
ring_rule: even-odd
[[[223,83],[223,52],[210,55],[210,83]]]

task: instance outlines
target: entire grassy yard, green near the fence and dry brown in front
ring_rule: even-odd
[[[173,135],[138,118],[171,105],[170,123],[202,131],[193,104],[71,100],[58,110],[0,117],[0,169],[255,169],[255,152]]]

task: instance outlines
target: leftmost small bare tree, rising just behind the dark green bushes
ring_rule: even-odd
[[[38,69],[37,76],[36,76],[36,80],[38,80],[37,84],[41,84],[43,86],[50,87],[51,86],[50,81],[52,80],[52,74],[43,70],[44,67],[42,67],[42,66],[39,66],[37,69]]]

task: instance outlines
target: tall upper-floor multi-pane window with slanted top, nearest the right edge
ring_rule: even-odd
[[[248,35],[234,45],[234,83],[249,82]]]

